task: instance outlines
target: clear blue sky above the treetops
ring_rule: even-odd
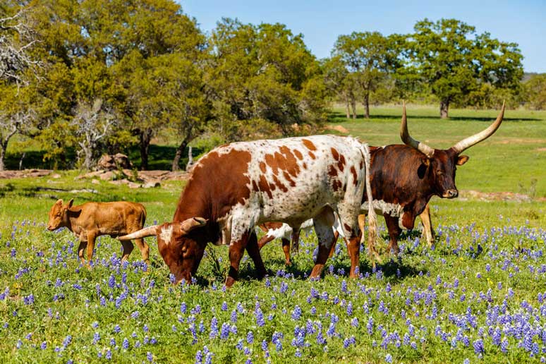
[[[304,35],[319,58],[327,57],[338,35],[377,30],[384,35],[413,31],[417,20],[456,18],[478,32],[519,44],[527,72],[546,72],[546,0],[177,0],[205,32],[222,17],[243,23],[283,23]],[[443,3],[443,4],[442,4]]]

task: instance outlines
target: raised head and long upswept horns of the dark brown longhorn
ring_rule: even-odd
[[[453,147],[447,150],[439,150],[429,147],[423,142],[411,138],[408,133],[408,123],[406,117],[406,105],[402,114],[400,127],[400,138],[406,145],[409,145],[423,153],[423,163],[420,166],[420,174],[427,174],[432,191],[441,198],[456,198],[459,191],[455,186],[455,172],[457,166],[462,166],[468,161],[468,156],[461,155],[463,150],[472,147],[478,142],[489,138],[502,123],[504,117],[504,103],[497,116],[497,120],[484,131],[461,140]]]

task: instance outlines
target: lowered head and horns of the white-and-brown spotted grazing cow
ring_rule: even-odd
[[[162,225],[149,226],[135,231],[119,240],[132,240],[157,236],[157,248],[166,265],[176,278],[178,284],[182,279],[190,283],[192,274],[197,272],[206,244],[199,238],[199,228],[207,224],[202,217],[191,217],[183,222],[168,222]]]

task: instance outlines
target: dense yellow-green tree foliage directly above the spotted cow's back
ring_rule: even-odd
[[[210,37],[206,75],[214,127],[226,140],[294,133],[324,120],[321,70],[302,35],[281,24],[224,19]]]

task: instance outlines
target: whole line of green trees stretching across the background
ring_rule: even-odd
[[[205,35],[172,0],[33,0],[0,4],[0,170],[8,141],[33,138],[59,168],[91,169],[103,152],[152,139],[214,143],[310,133],[332,102],[546,107],[546,77],[521,83],[517,44],[459,20],[423,20],[410,35],[340,35],[318,60],[281,24],[222,19]]]

